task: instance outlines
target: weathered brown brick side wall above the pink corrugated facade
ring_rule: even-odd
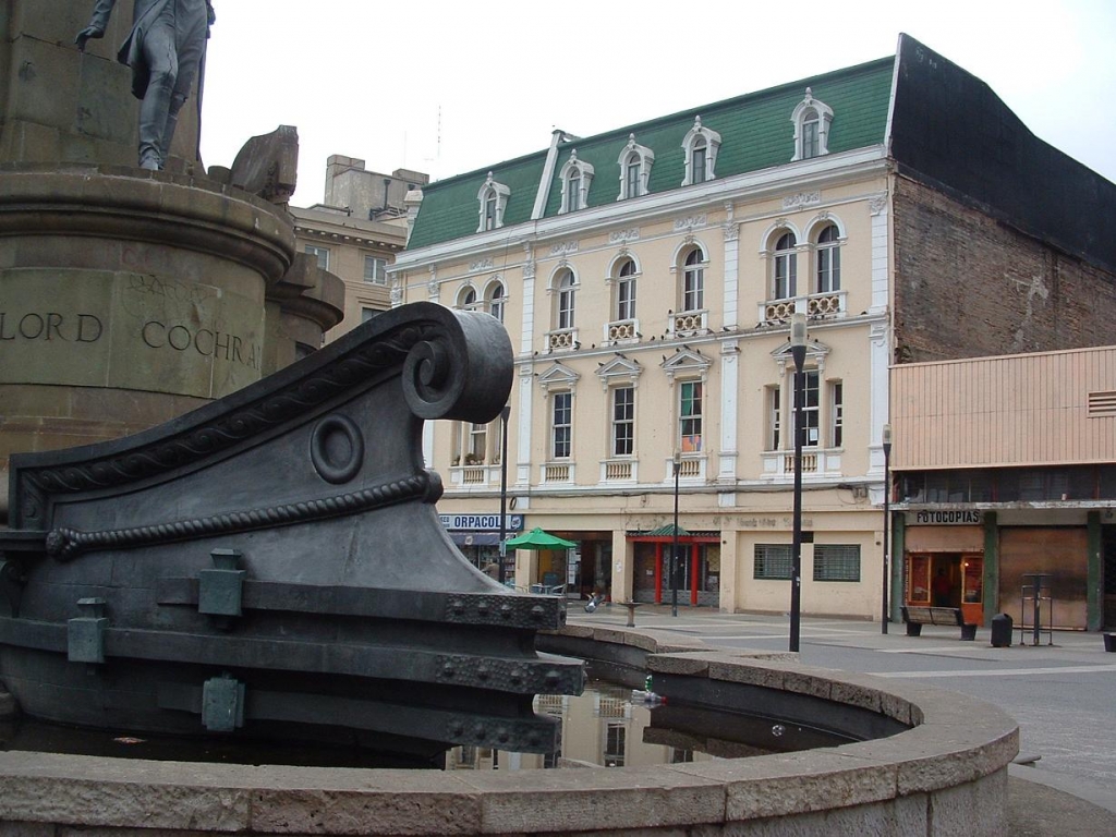
[[[1116,344],[1116,276],[924,184],[893,182],[897,363]]]

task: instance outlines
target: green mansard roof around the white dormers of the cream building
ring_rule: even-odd
[[[605,134],[564,142],[558,147],[543,217],[558,214],[561,167],[575,148],[578,160],[594,167],[587,205],[615,203],[619,193],[617,160],[629,134],[635,134],[639,145],[655,153],[648,191],[654,194],[681,189],[685,169],[682,141],[693,127],[695,116],[701,116],[704,127],[721,135],[715,170],[718,180],[785,165],[795,151],[791,113],[802,100],[807,87],[812,90],[815,99],[834,110],[829,153],[879,145],[885,140],[894,64],[894,57],[882,58]],[[480,212],[477,193],[489,171],[493,180],[511,190],[503,227],[530,220],[546,157],[543,150],[425,186],[407,250],[475,233]]]

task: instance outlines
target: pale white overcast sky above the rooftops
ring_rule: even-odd
[[[326,158],[434,180],[895,54],[906,32],[1116,181],[1116,3],[213,0],[202,155],[295,125],[296,205]]]

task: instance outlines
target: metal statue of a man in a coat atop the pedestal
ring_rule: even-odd
[[[103,38],[116,0],[97,0],[89,26],[75,42]],[[174,138],[179,110],[190,95],[213,23],[210,0],[135,0],[134,23],[117,52],[132,68],[140,105],[140,167],[162,169]]]

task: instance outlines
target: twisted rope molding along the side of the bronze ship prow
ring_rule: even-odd
[[[433,503],[442,496],[442,480],[433,471],[424,471],[402,480],[321,500],[285,503],[267,509],[233,511],[173,523],[155,523],[132,529],[80,531],[61,527],[47,533],[47,555],[68,561],[81,552],[112,547],[133,549],[177,540],[195,540],[212,535],[233,535],[253,529],[307,523],[324,518],[355,514],[407,500],[421,499]]]

